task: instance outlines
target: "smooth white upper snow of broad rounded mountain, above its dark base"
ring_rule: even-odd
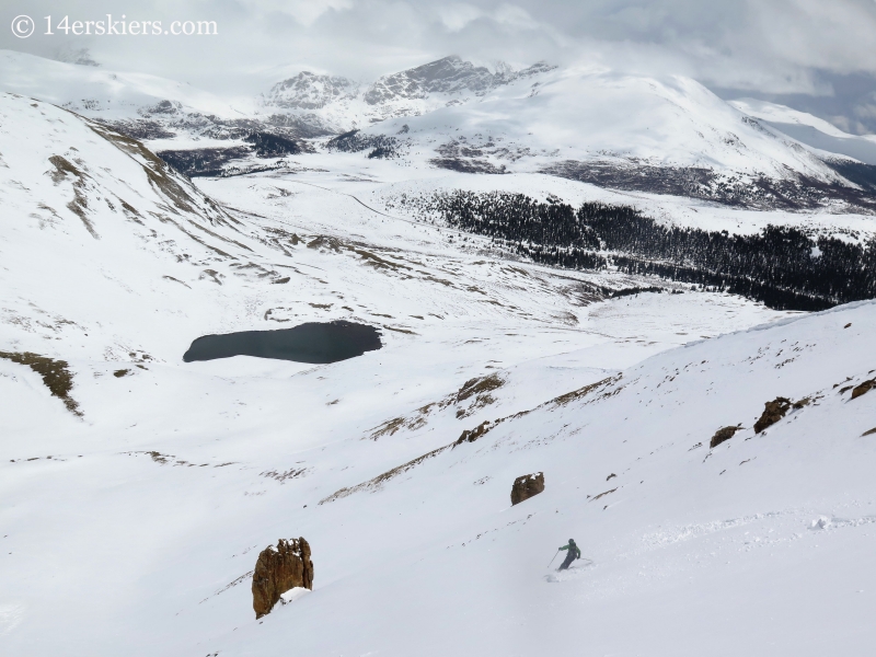
[[[556,160],[620,160],[779,177],[787,170],[833,180],[833,172],[693,80],[572,68],[519,80],[476,102],[371,128],[418,147],[481,149],[509,169]],[[463,155],[464,157],[464,155]]]

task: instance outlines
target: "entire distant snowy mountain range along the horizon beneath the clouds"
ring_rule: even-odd
[[[302,71],[256,97],[0,53],[0,89],[103,123],[194,175],[361,153],[465,173],[545,173],[756,209],[876,208],[876,138],[682,77],[451,56],[370,84]]]

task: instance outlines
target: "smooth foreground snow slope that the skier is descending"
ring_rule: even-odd
[[[315,508],[302,485],[308,508],[290,496],[276,530],[319,538],[322,586],[200,645],[228,655],[287,643],[302,655],[864,655],[876,608],[866,566],[876,397],[851,389],[873,377],[860,354],[874,328],[867,303],[701,342],[389,481],[350,474]],[[756,434],[776,396],[799,407]],[[530,472],[544,473],[545,492],[509,507],[510,483]],[[554,574],[545,566],[569,535],[592,561]],[[219,597],[205,606],[232,604]]]

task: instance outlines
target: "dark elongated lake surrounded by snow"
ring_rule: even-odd
[[[353,322],[312,322],[278,331],[241,331],[197,338],[183,355],[185,362],[231,356],[255,356],[296,362],[326,364],[379,349],[380,333]]]

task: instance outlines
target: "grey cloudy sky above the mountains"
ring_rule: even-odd
[[[489,65],[599,61],[690,76],[876,132],[876,0],[3,0],[0,47],[90,57],[220,93],[308,69],[359,80],[456,54]],[[57,24],[216,21],[215,36],[65,36]],[[35,20],[28,38],[9,28]],[[53,22],[45,35],[46,19]]]

